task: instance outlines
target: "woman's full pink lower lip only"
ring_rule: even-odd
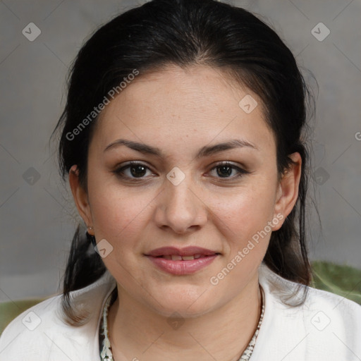
[[[190,261],[172,261],[171,259],[162,257],[147,257],[161,270],[166,271],[169,274],[182,276],[185,274],[194,274],[195,272],[200,271],[200,269],[207,267],[214,261],[217,255],[192,259]]]

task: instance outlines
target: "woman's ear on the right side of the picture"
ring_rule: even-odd
[[[283,221],[288,214],[292,211],[298,198],[298,186],[300,185],[301,171],[302,171],[302,158],[300,153],[296,152],[290,154],[288,157],[293,160],[290,169],[283,173],[281,181],[279,181],[276,204],[274,207],[274,216],[277,214],[283,215]],[[279,219],[279,216],[277,217]],[[279,222],[272,231],[277,231],[281,228],[283,221]]]

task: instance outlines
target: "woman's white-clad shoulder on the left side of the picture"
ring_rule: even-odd
[[[19,314],[0,336],[0,360],[75,361],[90,360],[94,354],[99,355],[98,328],[102,305],[114,286],[116,281],[106,271],[98,281],[71,293],[75,309],[89,314],[82,326],[66,323],[61,295]]]

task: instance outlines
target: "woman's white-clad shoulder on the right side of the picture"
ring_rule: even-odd
[[[361,359],[361,306],[356,302],[283,279],[264,265],[259,283],[266,305],[257,342],[269,344],[271,355],[285,361]]]

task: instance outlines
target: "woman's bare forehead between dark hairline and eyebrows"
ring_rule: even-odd
[[[255,109],[249,112],[247,103]],[[124,136],[166,147],[237,135],[260,148],[274,146],[257,94],[208,66],[168,66],[140,73],[102,111],[97,134],[104,146]]]

